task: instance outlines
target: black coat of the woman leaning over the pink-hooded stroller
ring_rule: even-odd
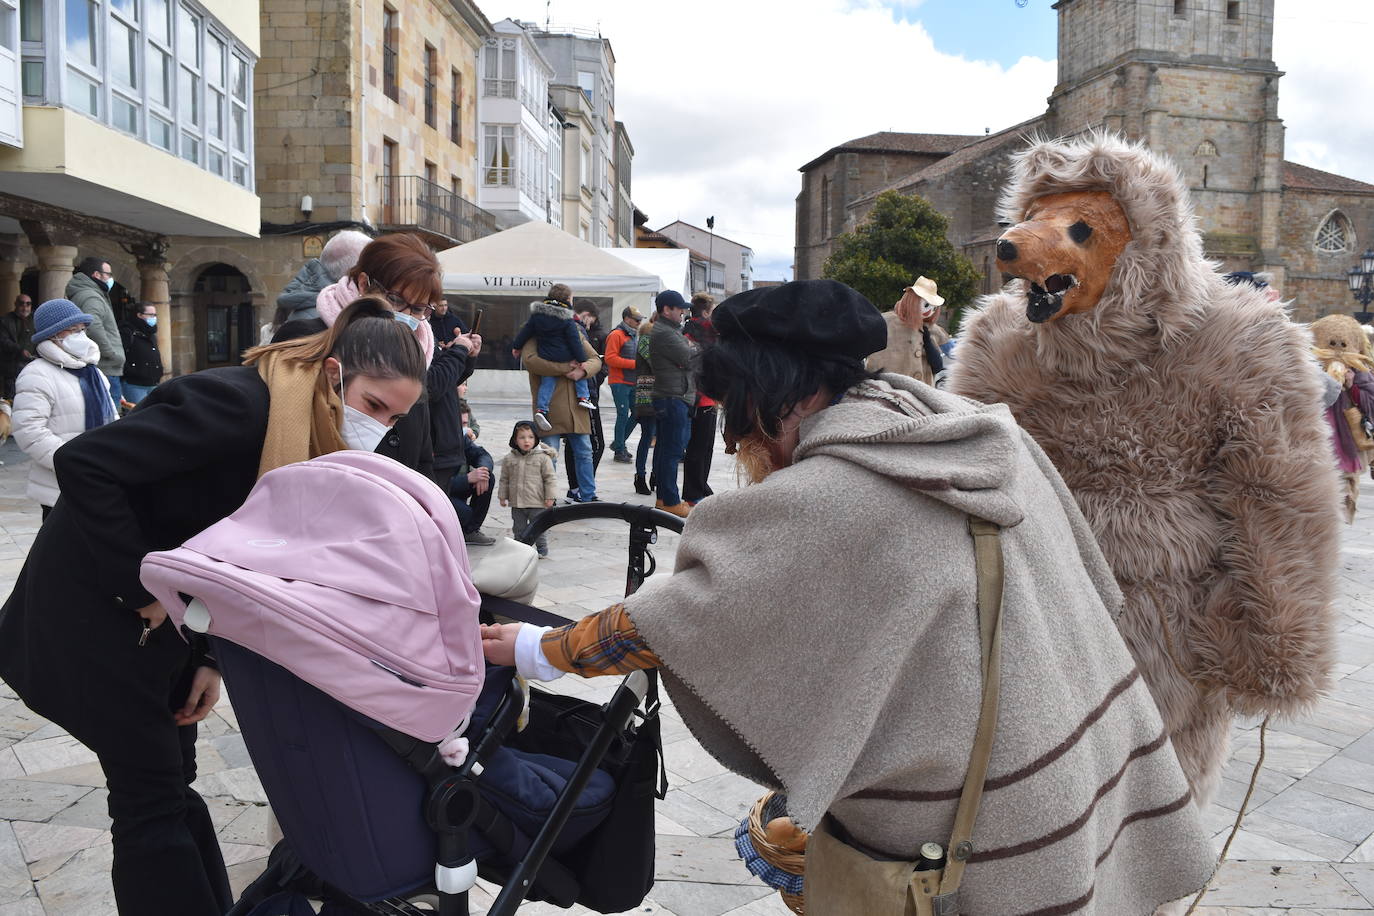
[[[154,634],[155,651],[133,651],[135,611],[154,600],[139,566],[243,504],[267,413],[257,369],[209,369],[158,386],[129,416],[58,449],[63,496],[0,610],[0,677],[32,709],[89,733],[120,715],[125,685],[148,677],[129,665],[146,658],[176,677],[191,662],[170,623]]]

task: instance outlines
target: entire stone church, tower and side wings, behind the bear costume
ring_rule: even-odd
[[[1046,113],[988,136],[882,133],[801,166],[796,276],[820,276],[835,238],[883,191],[919,194],[949,240],[1002,286],[996,199],[1035,136],[1114,130],[1183,170],[1209,257],[1272,275],[1293,314],[1353,308],[1345,272],[1374,247],[1374,185],[1283,159],[1274,0],[1059,0],[1059,73]],[[881,140],[881,143],[878,143]]]

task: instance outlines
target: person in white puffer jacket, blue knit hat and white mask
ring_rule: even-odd
[[[38,358],[15,383],[14,441],[29,456],[27,496],[47,520],[59,488],[54,455],[87,430],[114,422],[110,386],[96,368],[100,347],[88,336],[91,316],[67,299],[49,299],[34,316]]]

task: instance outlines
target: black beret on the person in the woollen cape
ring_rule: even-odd
[[[747,336],[861,360],[888,346],[888,323],[857,290],[835,280],[793,280],[738,293],[710,316],[721,341]]]

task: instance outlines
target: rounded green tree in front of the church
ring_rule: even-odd
[[[940,287],[954,334],[981,277],[949,244],[948,229],[949,221],[925,198],[885,191],[857,229],[835,239],[822,276],[852,286],[888,312],[901,290],[925,275]]]

